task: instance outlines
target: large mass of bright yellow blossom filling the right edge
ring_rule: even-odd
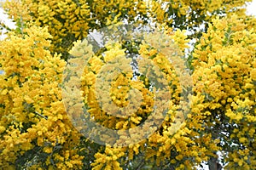
[[[224,146],[227,168],[255,167],[255,41],[255,30],[232,15],[212,20],[195,46],[196,97],[206,133],[216,129],[212,138]]]

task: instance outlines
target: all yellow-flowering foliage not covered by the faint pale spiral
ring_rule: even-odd
[[[0,42],[0,70],[4,71],[0,75],[0,167],[193,169],[207,161],[210,169],[255,169],[256,20],[244,14],[241,6],[245,2],[4,3],[3,8],[17,28]],[[191,109],[183,117],[184,108],[179,102],[184,89],[174,65],[184,65],[178,59],[171,63],[170,51],[165,53],[147,42],[131,40],[108,44],[93,54],[83,71],[82,97],[91,117],[104,127],[129,129],[144,122],[154,109],[154,90],[143,74],[119,74],[111,82],[109,95],[113,103],[120,108],[128,105],[131,88],[142,94],[143,103],[129,118],[109,116],[107,110],[112,105],[99,105],[94,93],[102,67],[120,56],[140,55],[157,65],[168,82],[172,98],[160,128],[148,139],[124,147],[96,144],[84,138],[70,122],[61,94],[69,54],[82,55],[78,48],[86,44],[79,40],[95,29],[117,23],[150,24],[163,31],[174,40],[168,48],[178,47],[177,57],[189,68],[187,76],[193,78]],[[148,42],[154,42],[154,36],[148,36]],[[196,42],[190,43],[192,39]],[[84,46],[84,51],[93,53],[90,46]],[[121,59],[119,65],[125,62]],[[172,126],[174,122],[176,126]],[[125,140],[131,139],[119,142]]]

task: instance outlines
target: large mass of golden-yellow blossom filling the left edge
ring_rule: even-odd
[[[10,32],[0,47],[0,167],[79,168],[79,133],[61,102],[65,62],[49,53],[47,29],[32,26],[23,33]]]

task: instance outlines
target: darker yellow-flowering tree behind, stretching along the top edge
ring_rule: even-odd
[[[241,8],[251,0],[219,1],[143,1],[143,0],[10,0],[3,8],[16,23],[48,26],[53,36],[52,54],[67,59],[73,42],[84,39],[89,31],[119,21],[127,23],[161,23],[174,29],[188,30],[201,36],[212,18],[230,14],[244,15]],[[201,25],[204,28],[199,31]]]

